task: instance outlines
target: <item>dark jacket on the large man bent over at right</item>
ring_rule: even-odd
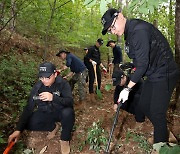
[[[125,51],[136,67],[131,81],[137,83],[143,76],[150,81],[160,81],[176,74],[177,65],[169,43],[152,24],[138,19],[127,20],[124,39]]]

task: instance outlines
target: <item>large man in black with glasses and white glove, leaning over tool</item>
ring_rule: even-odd
[[[126,53],[136,67],[119,96],[125,102],[136,83],[146,76],[140,98],[141,110],[154,127],[154,146],[168,142],[166,112],[179,69],[167,39],[152,24],[140,19],[126,19],[121,11],[109,9],[102,16],[102,34],[124,34]],[[158,149],[157,149],[158,151]]]

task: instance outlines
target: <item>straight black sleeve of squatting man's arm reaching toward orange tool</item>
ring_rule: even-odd
[[[16,130],[19,130],[22,132],[25,129],[25,126],[28,123],[29,117],[33,113],[33,110],[35,107],[35,101],[33,100],[33,96],[37,95],[36,92],[38,91],[38,89],[39,89],[38,87],[40,86],[40,84],[41,83],[38,83],[32,88],[29,99],[28,99],[28,103],[23,109],[23,112],[18,121]]]

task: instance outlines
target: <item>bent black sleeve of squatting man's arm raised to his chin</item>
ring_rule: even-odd
[[[63,84],[63,90],[61,91],[61,95],[58,96],[56,94],[53,94],[52,103],[61,103],[61,105],[63,105],[64,107],[73,107],[73,97],[69,83],[65,81],[61,84]]]

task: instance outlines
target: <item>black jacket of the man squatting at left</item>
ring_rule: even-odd
[[[34,100],[34,96],[38,96],[41,92],[50,92],[53,94],[52,102],[43,102],[41,100]],[[23,131],[28,123],[29,118],[34,110],[45,112],[53,112],[53,110],[61,111],[65,107],[73,108],[73,96],[69,83],[62,77],[57,76],[55,83],[50,87],[44,86],[41,81],[38,81],[32,88],[27,105],[19,119],[16,130]]]

